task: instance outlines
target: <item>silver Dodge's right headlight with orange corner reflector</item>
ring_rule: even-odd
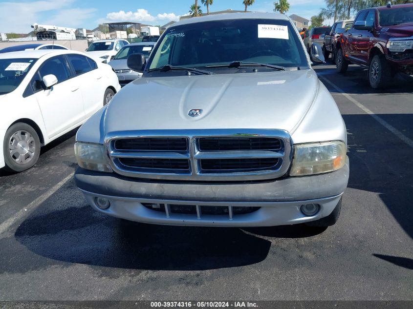
[[[346,163],[346,144],[340,141],[294,146],[291,176],[332,172]]]

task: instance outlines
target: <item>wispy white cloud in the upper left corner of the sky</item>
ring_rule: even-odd
[[[0,32],[28,33],[30,25],[52,23],[58,26],[75,27],[91,17],[94,9],[70,8],[76,0],[37,0],[2,2],[0,9]],[[47,20],[47,12],[53,16]],[[50,14],[49,14],[50,12]]]

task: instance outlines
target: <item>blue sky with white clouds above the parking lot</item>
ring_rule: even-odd
[[[99,23],[135,21],[163,25],[188,15],[194,0],[0,0],[0,32],[29,33],[30,25],[94,29]],[[201,1],[198,0],[199,5]],[[288,0],[286,15],[297,14],[306,19],[317,15],[324,0]],[[274,1],[256,0],[250,11],[272,12]],[[210,11],[243,10],[242,0],[214,0]],[[206,12],[206,8],[202,6]]]

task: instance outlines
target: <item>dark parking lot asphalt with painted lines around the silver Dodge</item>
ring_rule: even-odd
[[[348,132],[350,180],[327,229],[125,223],[76,188],[74,134],[0,171],[0,300],[413,300],[413,86],[315,67]],[[302,85],[305,87],[305,85]]]

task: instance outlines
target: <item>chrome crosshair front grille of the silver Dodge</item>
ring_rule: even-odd
[[[105,143],[113,170],[124,176],[194,181],[283,176],[290,164],[289,135],[280,130],[244,131],[125,132]]]

